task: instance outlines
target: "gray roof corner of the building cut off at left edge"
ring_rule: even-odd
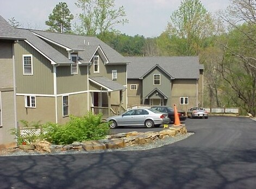
[[[18,32],[0,15],[0,38],[6,40],[23,40],[24,36]]]

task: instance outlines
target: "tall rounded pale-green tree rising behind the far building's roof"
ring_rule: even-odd
[[[167,25],[170,36],[179,37],[184,55],[198,55],[205,39],[213,35],[213,19],[199,0],[183,0]]]

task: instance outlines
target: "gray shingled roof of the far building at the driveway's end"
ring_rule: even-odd
[[[198,79],[199,60],[197,56],[173,57],[127,57],[130,64],[127,66],[128,79],[140,79],[156,64],[173,76],[174,79]]]

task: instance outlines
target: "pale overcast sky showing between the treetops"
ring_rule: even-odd
[[[6,20],[15,17],[24,28],[47,29],[45,21],[59,2],[66,2],[73,15],[81,12],[74,3],[77,0],[2,0],[0,15]],[[229,0],[201,0],[209,12],[226,9]],[[166,28],[172,12],[178,9],[180,0],[115,0],[116,7],[126,10],[129,23],[117,27],[123,34],[157,37]]]

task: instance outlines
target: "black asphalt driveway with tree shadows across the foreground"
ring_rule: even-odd
[[[0,188],[255,188],[255,121],[210,117],[186,127],[195,134],[147,151],[0,157]]]

